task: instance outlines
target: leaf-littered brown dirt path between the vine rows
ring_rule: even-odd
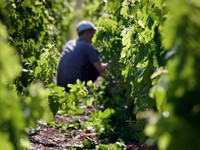
[[[31,142],[31,148],[29,150],[68,150],[74,149],[85,149],[83,147],[83,141],[92,141],[94,145],[109,143],[108,139],[100,140],[97,138],[95,130],[92,127],[87,129],[80,129],[71,122],[86,122],[88,112],[91,108],[86,110],[86,113],[81,116],[69,115],[55,116],[55,125],[47,125],[44,122],[40,122],[36,129],[33,129],[29,134]],[[68,125],[66,125],[68,124]],[[155,148],[148,148],[144,145],[133,142],[127,145],[127,150],[156,150]]]

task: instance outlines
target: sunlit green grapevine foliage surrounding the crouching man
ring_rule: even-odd
[[[96,111],[76,125],[115,143],[85,148],[199,149],[200,2],[84,0],[79,18],[74,10],[71,0],[0,1],[0,149],[28,148],[39,120],[82,115],[85,105]],[[77,18],[97,25],[93,42],[109,69],[66,93],[54,78]]]

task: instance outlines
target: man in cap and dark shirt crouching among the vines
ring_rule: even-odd
[[[79,39],[70,40],[64,46],[57,70],[57,85],[65,87],[76,80],[93,82],[102,75],[107,64],[101,63],[98,52],[91,45],[96,27],[90,21],[81,21],[76,27]]]

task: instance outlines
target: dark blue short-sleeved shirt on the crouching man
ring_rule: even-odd
[[[67,84],[83,81],[82,68],[99,61],[96,49],[83,40],[71,40],[66,43],[62,51],[58,70],[57,85],[67,87]]]

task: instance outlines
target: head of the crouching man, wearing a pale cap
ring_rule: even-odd
[[[90,21],[83,20],[77,24],[76,31],[79,38],[91,43],[93,35],[96,31],[96,26]]]

